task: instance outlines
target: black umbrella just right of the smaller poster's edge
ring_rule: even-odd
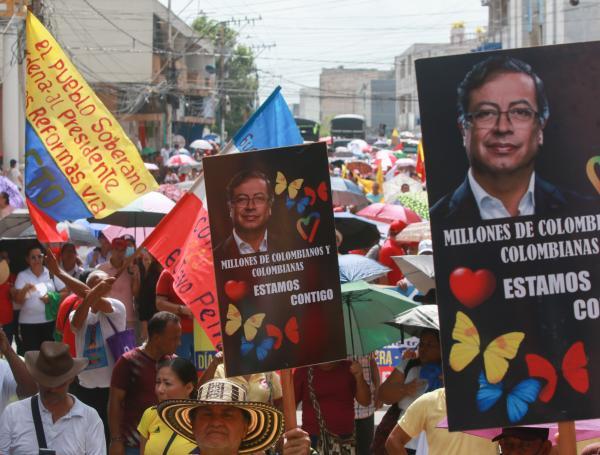
[[[350,212],[335,212],[333,214],[335,228],[342,234],[343,240],[339,247],[340,252],[370,248],[379,242],[381,223],[361,218]],[[388,226],[384,225],[384,235]]]

